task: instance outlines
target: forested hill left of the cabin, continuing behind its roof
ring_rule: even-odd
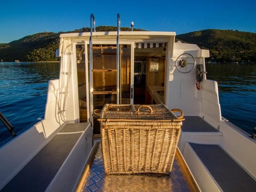
[[[116,31],[113,26],[99,26],[96,31]],[[129,27],[121,27],[121,31],[131,31]],[[135,28],[134,31],[145,31]],[[90,32],[90,27],[83,27],[67,32],[42,32],[29,35],[10,43],[0,43],[0,61],[58,61],[55,51],[58,49],[61,33]]]

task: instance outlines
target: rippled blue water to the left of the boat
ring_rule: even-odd
[[[0,63],[0,111],[18,134],[45,114],[48,81],[58,78],[60,63]],[[10,134],[0,122],[0,142]]]

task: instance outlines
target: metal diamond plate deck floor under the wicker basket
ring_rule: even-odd
[[[113,174],[105,175],[101,145],[95,154],[82,191],[191,191],[175,157],[170,175]]]

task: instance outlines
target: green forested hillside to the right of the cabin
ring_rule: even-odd
[[[178,35],[176,39],[210,50],[211,61],[256,61],[256,33],[206,29]]]

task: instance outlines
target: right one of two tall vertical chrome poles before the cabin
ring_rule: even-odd
[[[120,85],[119,85],[119,31],[120,31],[120,14],[117,14],[117,37],[116,37],[116,104],[120,104]]]

